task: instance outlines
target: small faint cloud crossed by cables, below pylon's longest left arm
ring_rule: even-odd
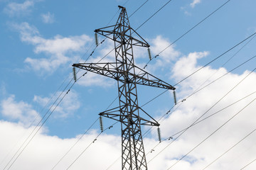
[[[41,104],[41,106],[46,106],[48,101],[50,101],[50,103],[53,103],[53,101],[55,101],[58,96],[60,96],[60,98],[63,98],[64,95],[65,93],[58,91],[51,100],[49,97],[34,96],[33,101]],[[60,98],[58,99],[58,101],[60,101]],[[58,101],[55,103],[55,105],[53,105],[51,110],[55,108]],[[65,98],[63,98],[63,101],[61,101],[60,105],[58,105],[57,108],[55,108],[53,116],[55,118],[68,118],[68,116],[73,115],[73,113],[75,113],[75,111],[77,111],[78,108],[80,108],[78,94],[75,91],[71,90],[68,92]]]

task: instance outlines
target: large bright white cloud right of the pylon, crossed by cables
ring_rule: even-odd
[[[172,78],[176,80],[185,78],[189,73],[201,67],[201,65],[198,64],[198,60],[207,55],[208,52],[192,52],[187,56],[181,57],[174,65]],[[205,67],[177,86],[177,96],[182,100],[192,94],[193,91],[196,91],[206,80],[206,84],[208,84],[227,72],[225,68],[213,69]],[[254,114],[256,109],[255,104],[252,103],[245,108],[245,110],[242,110],[242,108],[247,106],[247,104],[256,97],[256,94],[253,94],[256,88],[252,85],[253,81],[256,79],[256,73],[252,72],[249,77],[242,81],[249,73],[249,71],[245,70],[242,74],[227,74],[202,91],[199,91],[190,98],[186,98],[186,101],[182,102],[181,106],[178,106],[169,117],[166,117],[166,119],[161,122],[161,134],[164,139],[188,127],[204,113],[206,113],[206,115],[204,115],[203,118],[213,113],[216,114],[204,120],[202,123],[191,127],[175,142],[171,143],[171,140],[169,140],[169,142],[165,141],[159,145],[157,149],[158,152],[171,143],[169,147],[166,147],[166,149],[159,154],[159,159],[156,157],[150,164],[157,164],[157,161],[165,159],[166,167],[164,169],[167,169],[236,113],[238,113],[238,115],[233,118],[233,120],[230,120],[223,128],[220,128],[220,130],[215,132],[208,140],[203,142],[202,145],[199,145],[199,147],[189,153],[188,156],[181,162],[178,162],[173,169],[203,169],[215,158],[220,156],[220,154],[223,154],[223,152],[235,145],[236,142],[240,141],[242,137],[245,137],[251,132],[255,128],[252,121],[256,118]],[[240,81],[242,82],[235,87]],[[235,89],[233,89],[234,87]],[[233,89],[233,91],[230,91],[231,89]],[[228,91],[230,91],[229,94]],[[225,94],[228,95],[225,96]],[[221,109],[249,94],[252,95],[218,113]],[[223,99],[220,100],[220,98]],[[210,111],[208,111],[209,108],[211,108]],[[239,111],[241,112],[239,113]],[[203,118],[201,118],[201,120]],[[174,138],[177,136],[178,135],[174,136]],[[247,137],[247,139],[241,142],[232,152],[230,151],[225,157],[220,158],[218,162],[212,164],[209,169],[242,168],[242,165],[247,164],[249,160],[252,159],[252,155],[256,149],[253,145],[253,141],[255,140],[255,135]],[[249,147],[251,150],[247,150],[245,154],[245,150]],[[241,154],[242,157],[240,157]],[[151,157],[154,157],[154,154],[152,154]],[[240,162],[235,162],[235,159],[240,159]]]

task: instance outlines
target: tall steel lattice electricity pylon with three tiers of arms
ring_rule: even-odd
[[[130,27],[126,8],[119,8],[122,11],[114,26],[95,30],[95,33],[114,40],[116,62],[80,63],[73,64],[73,67],[117,80],[119,106],[100,115],[121,123],[122,169],[147,169],[141,125],[159,126],[159,123],[138,106],[137,84],[171,90],[175,88],[134,65],[133,45],[149,47],[149,44]],[[137,38],[132,37],[132,34]],[[149,120],[142,118],[139,110]]]

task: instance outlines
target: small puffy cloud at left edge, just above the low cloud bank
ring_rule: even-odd
[[[1,114],[9,120],[18,120],[19,123],[24,125],[37,123],[41,118],[30,104],[15,101],[14,95],[1,101]]]

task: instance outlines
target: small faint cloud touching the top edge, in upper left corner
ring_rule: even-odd
[[[21,4],[16,2],[9,3],[4,8],[4,13],[7,13],[9,16],[23,16],[31,12],[31,7],[33,7],[34,1],[24,1]]]

